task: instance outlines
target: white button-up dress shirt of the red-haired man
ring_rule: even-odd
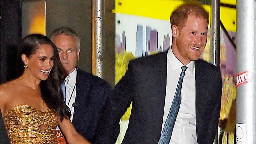
[[[175,57],[170,48],[167,53],[167,82],[162,131],[172,105],[182,66],[184,65]],[[182,83],[180,109],[174,124],[170,144],[197,144],[195,62],[191,61],[186,66],[188,68]]]

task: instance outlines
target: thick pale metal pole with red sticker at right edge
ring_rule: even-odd
[[[237,0],[236,142],[256,143],[255,0]]]

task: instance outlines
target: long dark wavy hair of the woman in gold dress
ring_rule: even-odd
[[[48,108],[59,114],[60,120],[62,121],[64,117],[69,118],[71,116],[70,109],[64,103],[61,89],[61,84],[66,76],[68,76],[68,73],[60,63],[57,47],[49,38],[41,34],[31,34],[21,40],[17,52],[17,76],[21,76],[25,69],[21,55],[25,54],[28,58],[31,57],[40,48],[41,44],[51,45],[54,51],[54,66],[48,78],[40,82],[42,99]]]

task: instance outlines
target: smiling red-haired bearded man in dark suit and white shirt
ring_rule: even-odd
[[[199,59],[207,41],[208,17],[208,12],[197,4],[182,4],[171,14],[171,48],[129,62],[125,76],[116,84],[104,108],[96,143],[115,143],[119,119],[131,101],[131,116],[122,143],[158,143],[183,66],[187,69],[180,108],[165,143],[213,143],[222,80],[219,68]]]

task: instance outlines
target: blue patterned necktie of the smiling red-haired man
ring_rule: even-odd
[[[180,93],[181,93],[181,87],[182,87],[182,81],[185,75],[185,71],[188,67],[183,66],[181,67],[182,72],[180,74],[180,78],[178,81],[178,85],[176,88],[176,92],[172,101],[172,106],[170,108],[169,114],[167,116],[167,119],[164,124],[164,129],[161,134],[161,137],[158,141],[158,144],[169,144],[172,136],[172,130],[176,121],[176,117],[178,115],[179,109],[180,109]]]

